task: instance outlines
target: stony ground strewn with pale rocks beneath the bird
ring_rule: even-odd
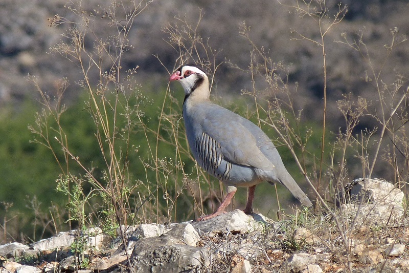
[[[235,210],[203,222],[123,227],[126,247],[100,228],[29,246],[9,243],[0,246],[0,272],[409,270],[403,193],[385,181],[360,179],[346,188],[346,197],[330,214],[298,211],[279,222]]]

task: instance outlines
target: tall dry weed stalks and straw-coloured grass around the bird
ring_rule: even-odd
[[[220,183],[217,194],[208,190],[218,182],[197,165],[193,171],[184,168],[183,156],[189,157],[190,160],[193,158],[185,144],[180,102],[172,95],[169,86],[163,98],[162,109],[158,113],[160,121],[158,127],[149,128],[143,120],[141,105],[144,98],[139,92],[139,82],[134,77],[138,67],[128,71],[122,69],[122,59],[132,48],[128,39],[130,30],[134,27],[135,18],[140,16],[149,4],[150,1],[121,3],[113,1],[105,8],[89,11],[83,9],[80,1],[70,2],[67,9],[78,20],[74,22],[60,16],[51,19],[54,26],[66,26],[63,39],[51,50],[54,54],[72,61],[82,74],[83,79],[77,84],[88,96],[84,108],[89,113],[89,118],[95,122],[94,137],[99,143],[99,152],[105,162],[105,165],[98,166],[98,169],[102,170],[102,175],[96,176],[93,168],[71,152],[65,129],[59,122],[66,109],[62,98],[67,82],[61,81],[56,99],[53,99],[41,89],[38,80],[33,77],[41,95],[43,111],[37,114],[37,124],[33,125],[31,130],[36,141],[50,149],[60,166],[61,176],[57,189],[67,196],[70,228],[71,221],[78,223],[79,229],[99,225],[105,232],[121,225],[141,222],[173,222],[177,218],[176,204],[180,200],[189,204],[186,210],[191,211],[188,217],[193,218],[206,213],[204,206],[206,200],[215,199],[214,195],[223,195]],[[261,268],[272,271],[286,270],[287,267],[283,264],[286,253],[301,250],[314,253],[317,248],[328,254],[325,259],[329,259],[329,262],[323,260],[323,263],[332,263],[347,271],[353,271],[359,268],[358,265],[362,262],[354,252],[352,243],[354,240],[367,245],[367,249],[371,248],[368,245],[376,245],[376,242],[379,243],[379,240],[387,237],[401,243],[409,243],[405,222],[399,226],[380,226],[374,223],[363,226],[357,222],[357,218],[344,218],[342,212],[335,206],[340,190],[352,180],[349,170],[354,167],[352,164],[356,164],[356,161],[360,162],[362,177],[371,177],[375,170],[383,170],[384,165],[388,164],[387,169],[394,173],[393,182],[397,187],[406,190],[409,174],[407,79],[396,73],[393,81],[383,80],[390,71],[385,71],[383,67],[374,67],[373,57],[363,35],[359,39],[350,40],[348,35],[343,33],[343,40],[337,42],[358,52],[360,61],[367,67],[366,80],[368,85],[373,87],[375,95],[354,99],[351,94],[344,94],[337,102],[344,124],[329,129],[327,124],[329,67],[326,60],[332,53],[327,50],[327,45],[333,41],[327,38],[327,33],[342,22],[347,8],[338,6],[338,9],[332,10],[325,5],[325,1],[296,1],[286,7],[293,16],[315,22],[315,35],[308,36],[298,29],[293,30],[293,35],[294,39],[311,43],[316,46],[316,50],[322,52],[323,69],[320,75],[316,75],[322,77],[324,82],[322,108],[317,109],[322,113],[319,120],[321,129],[314,132],[306,125],[308,113],[297,109],[297,105],[301,105],[302,102],[298,101],[297,84],[289,82],[289,67],[274,60],[269,49],[259,46],[257,41],[251,38],[251,29],[245,24],[241,26],[240,34],[249,44],[249,64],[240,67],[231,61],[229,65],[241,73],[247,73],[252,79],[252,88],[243,90],[243,94],[254,101],[253,117],[257,119],[260,127],[274,131],[277,138],[273,141],[277,146],[285,146],[290,151],[299,172],[307,181],[308,190],[314,194],[313,215],[306,211],[297,211],[296,217],[282,213],[281,218],[289,219],[288,223],[284,223],[285,233],[277,233],[277,230],[266,227],[262,234],[244,237],[226,235],[225,238],[209,239],[205,243],[216,252],[226,243],[238,245],[247,240],[253,245],[257,244],[265,258],[260,259],[260,256],[257,256],[249,259],[252,259],[259,271]],[[117,17],[120,9],[126,11],[125,17]],[[106,18],[108,20],[105,20]],[[194,62],[208,70],[211,90],[214,90],[215,75],[222,64],[217,60],[219,52],[211,47],[209,38],[201,37],[197,33],[201,18],[199,16],[197,22],[192,24],[183,16],[176,17],[175,23],[164,31],[169,35],[168,44],[176,56],[172,70],[181,64]],[[97,33],[94,26],[102,23],[110,24],[117,30],[117,34],[106,37]],[[94,43],[92,50],[84,46],[89,39]],[[397,29],[392,29],[391,42],[385,46],[383,63],[387,62],[391,52],[401,47],[405,41],[406,38],[399,35]],[[157,59],[161,61],[159,56]],[[169,73],[172,72],[166,67],[165,69]],[[98,82],[89,81],[88,75],[91,74],[99,75]],[[390,78],[389,74],[387,76]],[[376,126],[362,129],[359,127],[362,119],[367,123],[369,119]],[[51,127],[50,120],[57,125]],[[336,131],[331,132],[330,130],[334,128]],[[136,147],[140,144],[130,143],[130,135],[137,129],[145,133],[144,143],[149,146],[147,158],[141,160],[146,172],[145,181],[135,181],[132,170],[129,170],[129,153],[137,151]],[[150,137],[152,134],[154,138]],[[328,135],[331,134],[335,139],[333,142],[329,141]],[[320,143],[311,145],[313,139],[319,139]],[[52,144],[55,140],[57,146]],[[173,146],[172,158],[158,156],[161,143]],[[319,152],[316,146],[320,146]],[[56,152],[61,149],[64,155],[62,159]],[[70,171],[72,164],[81,166],[83,172],[72,174]],[[155,181],[149,181],[150,172],[154,173]],[[84,186],[88,190],[85,191]],[[192,199],[184,197],[189,191]],[[280,201],[277,195],[279,206]],[[96,203],[99,203],[100,207],[96,207]],[[52,214],[51,219],[54,221],[56,215]],[[5,220],[3,223],[5,233],[6,224]],[[54,223],[54,226],[57,225]],[[291,236],[298,226],[310,229],[319,238],[318,242],[307,244],[294,240]],[[121,232],[120,235],[125,242],[124,233]],[[276,249],[283,249],[284,252],[274,252]],[[224,251],[223,255],[225,256],[215,260],[215,270],[226,271],[240,259],[237,249]],[[377,266],[387,268],[388,259]]]

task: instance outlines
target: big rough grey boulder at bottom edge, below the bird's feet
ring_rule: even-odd
[[[146,238],[135,244],[132,251],[134,272],[172,272],[205,269],[210,265],[207,249],[186,245],[167,234]]]

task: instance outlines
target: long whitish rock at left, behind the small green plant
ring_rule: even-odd
[[[103,245],[104,234],[99,227],[89,228],[85,232],[71,230],[70,232],[60,232],[54,237],[40,240],[30,246],[41,251],[55,250],[64,246],[71,246],[77,238],[85,240],[86,248],[100,249]],[[88,254],[88,249],[85,249],[84,253]]]

